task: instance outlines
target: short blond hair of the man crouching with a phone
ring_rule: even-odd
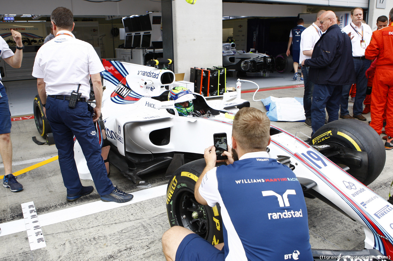
[[[266,151],[270,138],[270,120],[265,112],[244,107],[233,119],[232,136],[245,153]]]

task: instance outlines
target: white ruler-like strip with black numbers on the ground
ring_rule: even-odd
[[[29,239],[30,250],[35,250],[46,246],[44,235],[38,220],[34,202],[22,203],[23,218],[26,225],[27,237]]]

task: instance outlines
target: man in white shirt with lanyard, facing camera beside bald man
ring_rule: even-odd
[[[352,42],[352,56],[356,73],[356,96],[353,102],[353,117],[349,115],[348,111],[348,97],[351,85],[344,85],[341,98],[340,118],[353,119],[365,121],[366,118],[362,115],[363,101],[366,96],[367,79],[365,72],[371,65],[371,61],[366,59],[364,51],[369,45],[371,34],[373,33],[371,27],[363,24],[363,9],[355,7],[351,11],[352,22],[343,28],[343,31],[351,37]]]

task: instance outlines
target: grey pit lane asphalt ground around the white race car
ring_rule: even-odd
[[[261,87],[263,87],[263,80],[258,82]],[[235,85],[228,82],[229,86],[230,84]],[[288,81],[288,85],[290,84],[294,82]],[[261,91],[257,93],[256,98],[302,97],[303,90],[303,87],[296,87]],[[242,98],[251,101],[252,107],[265,111],[261,101],[252,101],[252,95],[253,93],[243,93]],[[349,103],[350,112],[352,105],[353,103]],[[367,118],[365,123],[367,123],[370,120],[370,114],[365,116]],[[43,141],[37,132],[34,120],[13,121],[12,124],[14,172],[42,161],[42,158],[57,155],[54,145],[39,146],[31,140],[32,136],[37,136],[37,139]],[[305,126],[303,122],[273,122],[273,124],[293,134],[296,131],[311,134],[311,128]],[[193,140],[197,142],[197,138]],[[388,198],[391,183],[393,151],[386,151],[386,154],[386,164],[382,174],[369,185],[369,188],[385,199]],[[38,159],[37,162],[34,162],[34,159]],[[3,169],[0,169],[0,174],[3,173]],[[168,182],[164,171],[145,175],[144,178],[153,187],[166,185]],[[110,179],[128,193],[143,190],[134,187],[132,182],[113,166],[111,166]],[[71,213],[75,206],[87,206],[89,203],[100,201],[99,195],[94,191],[73,203],[67,202],[58,161],[21,174],[18,176],[18,181],[24,186],[21,192],[15,193],[8,188],[0,188],[0,228],[2,230],[4,223],[23,219],[21,203],[34,201],[40,217],[40,215],[59,210],[69,210]],[[94,185],[92,181],[82,181],[82,183]],[[364,232],[358,223],[318,199],[306,198],[306,203],[312,248],[335,250],[364,248]],[[161,236],[169,228],[165,196],[130,205],[118,205],[114,209],[43,226],[42,232],[46,247],[33,251],[30,250],[26,231],[9,235],[0,234],[2,246],[0,260],[165,260],[161,246]],[[65,219],[68,219],[68,216]],[[296,235],[288,234],[288,237],[296,239]]]

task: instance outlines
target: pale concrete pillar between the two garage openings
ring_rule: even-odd
[[[222,65],[222,1],[173,1],[174,72]]]

